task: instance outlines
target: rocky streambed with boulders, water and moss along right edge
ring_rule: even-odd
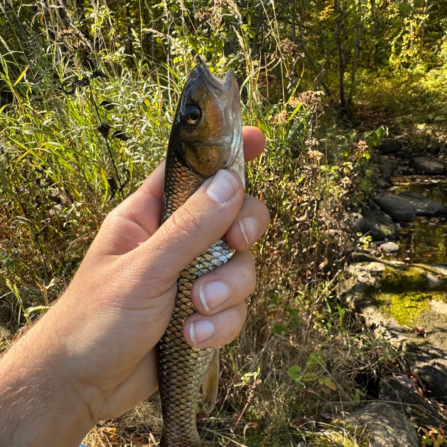
[[[351,214],[363,238],[342,295],[400,360],[350,423],[367,426],[373,447],[420,446],[423,426],[438,427],[439,443],[428,445],[447,445],[446,166],[399,139],[384,140],[375,157],[381,178],[374,203]]]

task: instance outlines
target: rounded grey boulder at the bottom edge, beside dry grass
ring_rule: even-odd
[[[371,447],[418,447],[419,439],[404,413],[389,404],[372,403],[354,411],[346,419],[354,427],[366,425]]]

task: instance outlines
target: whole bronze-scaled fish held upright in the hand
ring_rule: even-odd
[[[219,169],[237,173],[245,184],[242,113],[236,75],[223,79],[201,63],[190,72],[182,90],[169,136],[164,172],[161,221]],[[160,447],[200,447],[196,426],[197,399],[214,408],[219,380],[219,348],[193,348],[183,337],[194,281],[229,261],[234,254],[222,237],[190,263],[177,280],[174,311],[157,345],[157,371],[162,415]]]

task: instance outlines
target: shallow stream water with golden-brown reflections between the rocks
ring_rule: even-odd
[[[445,176],[393,177],[394,186],[389,192],[399,194],[414,191],[447,205],[447,179]],[[409,262],[447,264],[446,219],[417,217],[401,229],[397,256]]]

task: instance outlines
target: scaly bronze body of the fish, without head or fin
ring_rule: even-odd
[[[177,157],[167,160],[165,210],[162,220],[186,202],[203,179],[184,166]],[[160,447],[201,446],[196,428],[196,402],[200,384],[219,348],[192,348],[183,337],[183,325],[196,312],[191,300],[194,281],[231,259],[234,250],[222,239],[189,263],[177,280],[173,315],[158,343],[160,401],[163,436]]]

